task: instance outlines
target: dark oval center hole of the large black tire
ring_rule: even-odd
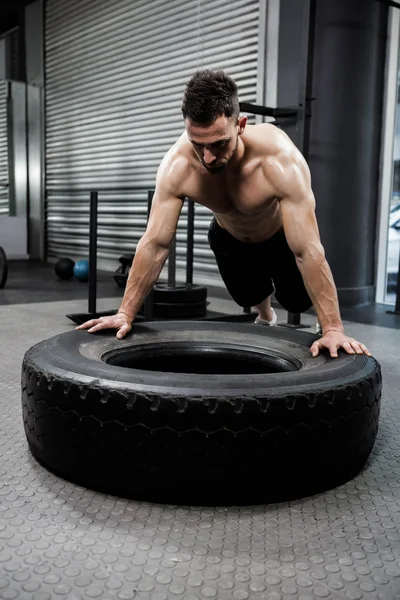
[[[203,375],[255,375],[297,371],[297,361],[267,350],[196,343],[146,344],[112,350],[108,364],[128,369]]]

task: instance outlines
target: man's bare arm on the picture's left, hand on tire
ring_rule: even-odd
[[[149,221],[136,247],[118,313],[92,319],[77,329],[88,329],[89,333],[118,329],[118,338],[124,337],[131,330],[132,321],[157,282],[168,258],[184,201],[184,197],[180,195],[184,177],[187,177],[186,160],[183,157],[171,158],[167,154],[157,173]]]

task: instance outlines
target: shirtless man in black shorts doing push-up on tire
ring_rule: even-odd
[[[315,217],[310,171],[288,136],[271,124],[247,125],[237,86],[223,71],[199,71],[186,86],[185,132],[164,156],[146,232],[139,241],[116,315],[77,329],[131,329],[157,282],[185,197],[208,207],[208,239],[225,285],[240,306],[255,306],[257,323],[274,325],[271,295],[288,311],[312,305],[322,337],[310,348],[337,357],[369,350],[347,337],[337,290]]]

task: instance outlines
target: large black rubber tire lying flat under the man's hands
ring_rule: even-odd
[[[378,431],[381,369],[310,355],[280,327],[164,321],[30,348],[22,409],[34,457],[137,501],[226,506],[311,496],[355,477]],[[121,368],[124,367],[124,368]]]

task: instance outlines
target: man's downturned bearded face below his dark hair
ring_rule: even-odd
[[[218,117],[211,125],[186,119],[186,132],[202,165],[209,173],[221,173],[236,154],[246,117]]]

